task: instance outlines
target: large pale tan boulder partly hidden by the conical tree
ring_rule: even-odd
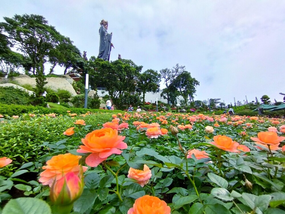
[[[46,81],[48,82],[45,87],[50,87],[53,90],[64,89],[68,90],[72,96],[76,95],[76,91],[72,87],[72,84],[68,80],[66,80],[66,76],[62,77],[47,77]],[[14,80],[19,82],[19,84],[30,84],[32,87],[36,87],[36,78],[31,78],[25,74],[14,77]]]

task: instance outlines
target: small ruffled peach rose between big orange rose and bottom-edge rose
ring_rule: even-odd
[[[128,178],[137,180],[137,183],[142,187],[149,182],[150,177],[151,177],[151,170],[145,164],[143,170],[133,169],[133,168],[129,169]]]

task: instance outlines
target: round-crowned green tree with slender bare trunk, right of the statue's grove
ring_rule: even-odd
[[[155,93],[159,88],[160,77],[161,75],[152,69],[148,69],[139,75],[137,86],[143,93],[143,106],[145,103],[146,91]]]

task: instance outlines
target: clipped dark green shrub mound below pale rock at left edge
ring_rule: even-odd
[[[29,105],[30,96],[27,92],[13,87],[0,87],[0,103]]]

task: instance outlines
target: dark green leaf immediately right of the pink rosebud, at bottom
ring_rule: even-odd
[[[93,206],[96,199],[96,191],[84,189],[82,195],[73,204],[75,212],[84,213],[89,207]]]

